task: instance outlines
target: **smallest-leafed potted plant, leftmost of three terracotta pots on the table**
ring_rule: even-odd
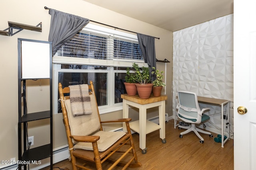
[[[135,74],[130,72],[130,68],[126,68],[126,76],[124,86],[126,89],[126,93],[128,95],[134,96],[137,94],[137,88],[135,86],[136,80],[135,80]]]

